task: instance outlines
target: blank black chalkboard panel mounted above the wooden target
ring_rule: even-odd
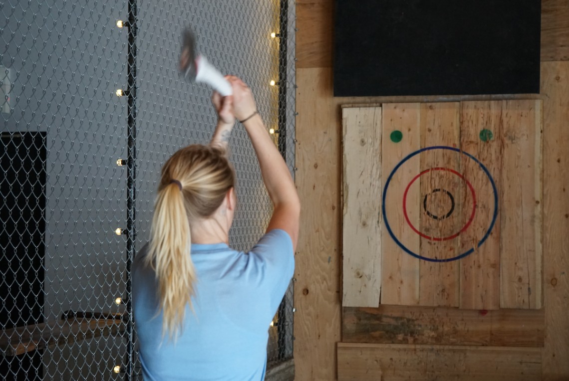
[[[336,0],[335,96],[539,93],[539,0]]]

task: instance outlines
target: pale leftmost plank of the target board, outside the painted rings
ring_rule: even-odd
[[[343,302],[377,307],[381,291],[381,107],[344,108]]]

